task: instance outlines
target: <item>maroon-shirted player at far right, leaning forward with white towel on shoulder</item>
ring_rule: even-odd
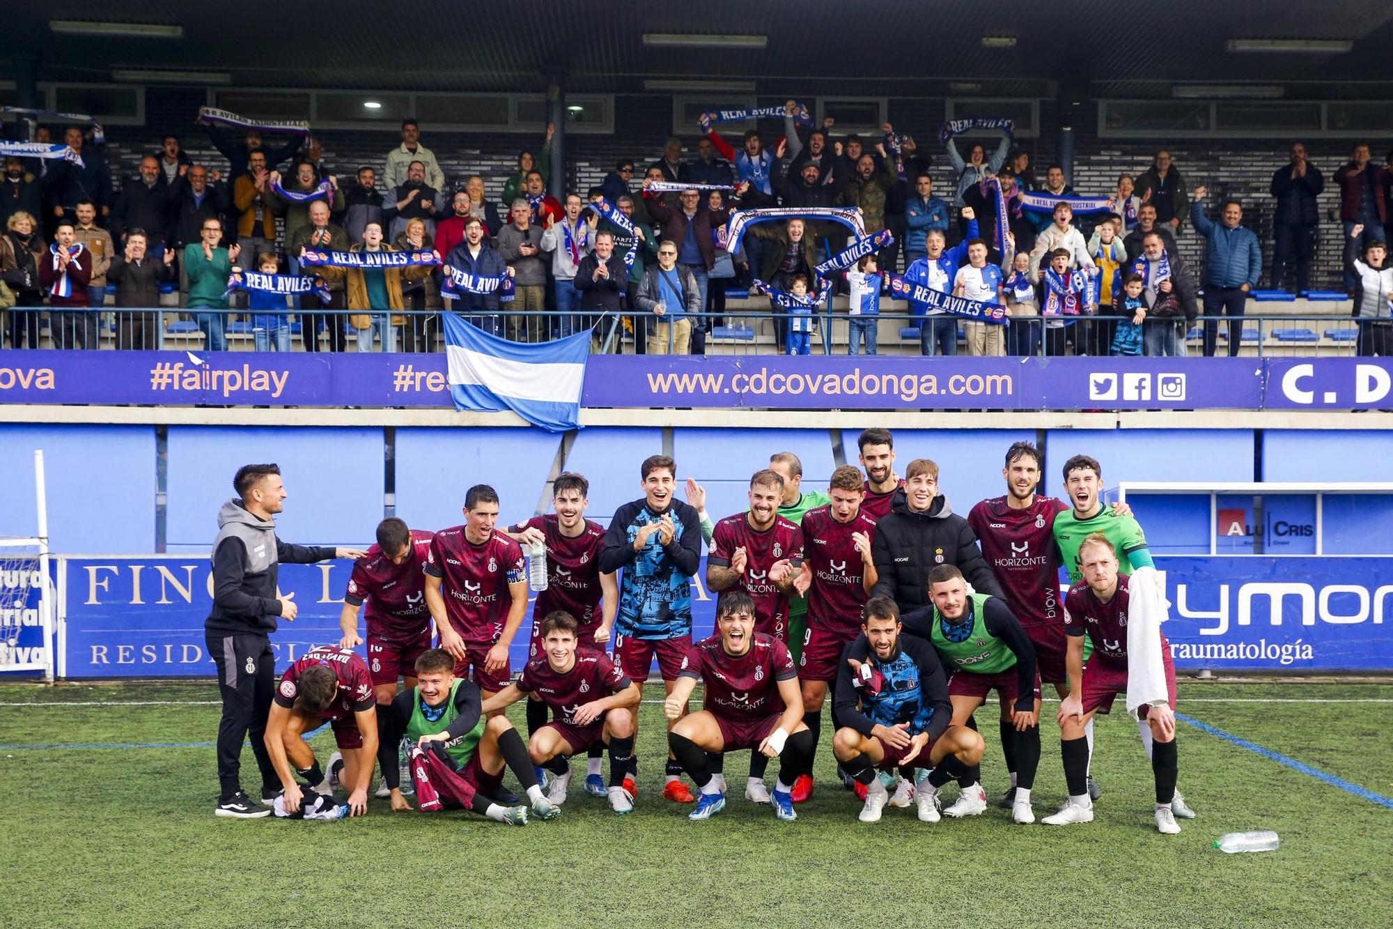
[[[1068,618],[1068,696],[1059,706],[1059,725],[1063,738],[1064,780],[1068,784],[1068,803],[1043,822],[1050,826],[1089,823],[1094,802],[1085,787],[1088,745],[1084,724],[1094,713],[1107,713],[1113,699],[1127,689],[1127,610],[1130,577],[1120,572],[1117,550],[1102,533],[1085,536],[1075,548],[1082,584],[1070,587],[1064,600]],[[1084,668],[1084,633],[1094,643],[1094,654]],[[1151,770],[1156,780],[1156,829],[1166,834],[1180,833],[1172,805],[1176,801],[1176,664],[1170,657],[1166,633],[1156,630],[1159,642],[1148,643],[1160,649],[1166,675],[1166,700],[1144,704],[1137,710],[1138,723],[1148,727],[1155,741]],[[1135,656],[1138,660],[1142,656]]]

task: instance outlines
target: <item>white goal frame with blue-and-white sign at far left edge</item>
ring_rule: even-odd
[[[53,681],[53,580],[43,449],[33,452],[35,534],[0,536],[0,672]],[[3,529],[3,526],[0,526]]]

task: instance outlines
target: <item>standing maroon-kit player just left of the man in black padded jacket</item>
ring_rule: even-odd
[[[827,485],[832,502],[809,509],[802,518],[802,573],[808,589],[808,630],[798,657],[798,686],[802,692],[802,721],[812,732],[808,770],[793,785],[793,802],[812,796],[812,762],[822,735],[822,704],[827,686],[837,679],[841,651],[861,635],[861,608],[875,587],[871,540],[875,519],[864,509],[861,471],[843,464],[832,471]],[[839,728],[836,700],[833,731]]]

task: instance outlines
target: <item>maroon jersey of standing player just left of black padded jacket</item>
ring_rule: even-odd
[[[802,516],[804,554],[812,568],[808,622],[848,642],[861,632],[861,607],[869,600],[862,584],[865,565],[853,533],[875,540],[875,519],[865,504],[850,523],[839,523],[830,506],[809,509]]]

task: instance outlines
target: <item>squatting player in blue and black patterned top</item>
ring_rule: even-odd
[[[837,671],[837,717],[846,725],[832,738],[837,760],[866,788],[858,819],[875,823],[889,794],[875,769],[908,769],[925,762],[933,771],[914,798],[919,819],[939,822],[939,787],[982,760],[982,737],[950,725],[953,707],[933,647],[901,636],[900,608],[889,597],[866,601],[861,636],[847,646]],[[851,657],[869,644],[869,660]],[[919,764],[925,767],[926,764]]]

